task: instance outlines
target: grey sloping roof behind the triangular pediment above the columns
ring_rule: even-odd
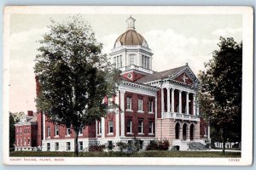
[[[142,77],[141,79],[138,79],[136,82],[152,82],[154,80],[160,80],[168,78],[174,74],[177,74],[177,72],[182,71],[187,65],[183,65],[174,69],[170,69],[167,71],[161,71],[161,72],[155,72],[151,75],[146,75],[145,77]]]

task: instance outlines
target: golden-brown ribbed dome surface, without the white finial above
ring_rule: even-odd
[[[128,29],[125,33],[121,34],[116,41],[114,42],[114,48],[116,47],[117,42],[120,42],[121,45],[144,45],[148,46],[145,38],[137,33],[134,29]]]

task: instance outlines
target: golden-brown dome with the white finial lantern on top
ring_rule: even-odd
[[[148,43],[145,38],[135,30],[134,22],[135,19],[131,18],[131,16],[126,20],[128,25],[127,31],[116,39],[113,48],[117,48],[122,45],[141,45],[148,48]]]

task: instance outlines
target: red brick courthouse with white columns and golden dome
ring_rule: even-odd
[[[195,74],[188,64],[153,71],[153,53],[147,41],[137,33],[133,18],[126,22],[127,30],[116,39],[109,54],[113,65],[121,71],[122,81],[117,94],[104,99],[108,105],[115,103],[119,108],[110,109],[106,117],[81,129],[79,150],[87,150],[90,144],[108,144],[111,149],[116,142],[129,143],[134,139],[139,139],[142,150],[150,141],[161,139],[168,139],[171,146],[178,145],[181,150],[188,150],[191,142],[204,144],[200,130],[207,124],[200,127],[196,99],[199,81]],[[37,115],[37,126],[38,149],[74,149],[72,128],[49,122],[42,113]]]

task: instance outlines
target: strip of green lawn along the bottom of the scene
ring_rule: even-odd
[[[55,152],[55,151],[13,151],[9,156],[40,156],[40,157],[73,157],[73,152]],[[225,152],[223,155],[219,151],[160,151],[150,150],[140,153],[122,153],[122,152],[80,152],[80,157],[241,157],[240,152]]]

